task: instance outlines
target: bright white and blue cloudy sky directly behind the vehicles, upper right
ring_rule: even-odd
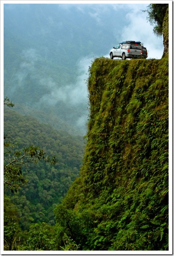
[[[157,37],[153,33],[153,27],[147,20],[147,13],[142,12],[146,10],[148,4],[151,1],[65,1],[75,3],[78,10],[85,12],[85,7],[83,4],[77,4],[78,2],[82,3],[93,3],[93,12],[89,13],[91,17],[96,19],[96,22],[102,26],[102,17],[105,12],[107,12],[107,5],[110,4],[113,8],[113,15],[117,20],[117,13],[126,11],[126,15],[123,17],[126,21],[129,22],[128,26],[122,26],[118,21],[119,28],[122,26],[122,40],[137,40],[144,43],[144,46],[148,49],[148,58],[161,59],[163,54],[163,38]],[[98,5],[96,4],[98,3]],[[104,3],[104,4],[101,4]],[[62,4],[62,9],[70,9],[71,4]],[[118,27],[111,27],[113,36],[117,35]],[[115,42],[115,46],[119,42]],[[113,45],[114,46],[114,45]],[[109,57],[109,53],[104,53],[105,57]]]

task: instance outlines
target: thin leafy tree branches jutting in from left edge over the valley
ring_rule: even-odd
[[[8,97],[5,97],[4,105],[14,106]],[[21,151],[14,150],[14,147],[10,137],[4,134],[4,189],[10,189],[12,193],[17,192],[17,189],[26,183],[22,175],[22,166],[26,168],[27,164],[37,163],[40,160],[54,165],[58,162],[56,156],[52,159],[45,156],[46,153],[39,146],[31,145]]]

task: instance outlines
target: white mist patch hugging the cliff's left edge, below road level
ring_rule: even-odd
[[[66,118],[71,120],[71,124],[74,124],[78,128],[79,132],[86,133],[86,123],[88,117],[88,90],[87,90],[87,78],[88,69],[91,66],[91,57],[83,57],[78,60],[78,76],[74,84],[66,84],[65,86],[59,86],[51,77],[43,78],[39,80],[39,83],[44,87],[47,85],[49,90],[38,102],[37,106],[56,106],[61,103],[61,106],[65,108],[70,107],[73,109],[73,114],[67,111]]]

